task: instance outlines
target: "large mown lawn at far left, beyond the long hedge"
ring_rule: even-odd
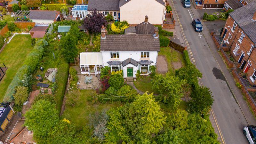
[[[6,74],[0,82],[0,100],[2,101],[5,92],[12,82],[18,69],[23,65],[29,52],[33,49],[31,46],[30,35],[15,35],[11,42],[4,47],[4,50],[0,53],[0,62],[8,67]]]

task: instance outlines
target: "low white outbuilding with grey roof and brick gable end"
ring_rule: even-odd
[[[29,19],[36,24],[52,24],[55,21],[61,21],[58,11],[29,11]]]

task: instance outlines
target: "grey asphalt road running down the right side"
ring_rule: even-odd
[[[180,0],[173,0],[173,3],[189,45],[188,50],[191,50],[193,61],[203,74],[200,81],[210,88],[214,97],[210,120],[218,134],[218,139],[221,143],[227,144],[248,143],[242,132],[244,126],[247,125],[246,119],[232,96],[204,35],[195,32],[191,26],[195,18],[191,11],[194,7],[191,5],[190,9],[185,9]],[[176,22],[179,23],[178,20]]]

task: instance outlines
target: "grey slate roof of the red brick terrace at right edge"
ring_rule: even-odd
[[[256,2],[252,2],[229,13],[254,44],[256,44],[256,21],[253,21],[252,17],[255,12]]]

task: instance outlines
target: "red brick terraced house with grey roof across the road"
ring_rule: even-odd
[[[224,43],[237,63],[237,68],[256,85],[256,2],[246,4],[228,16],[225,24]]]

